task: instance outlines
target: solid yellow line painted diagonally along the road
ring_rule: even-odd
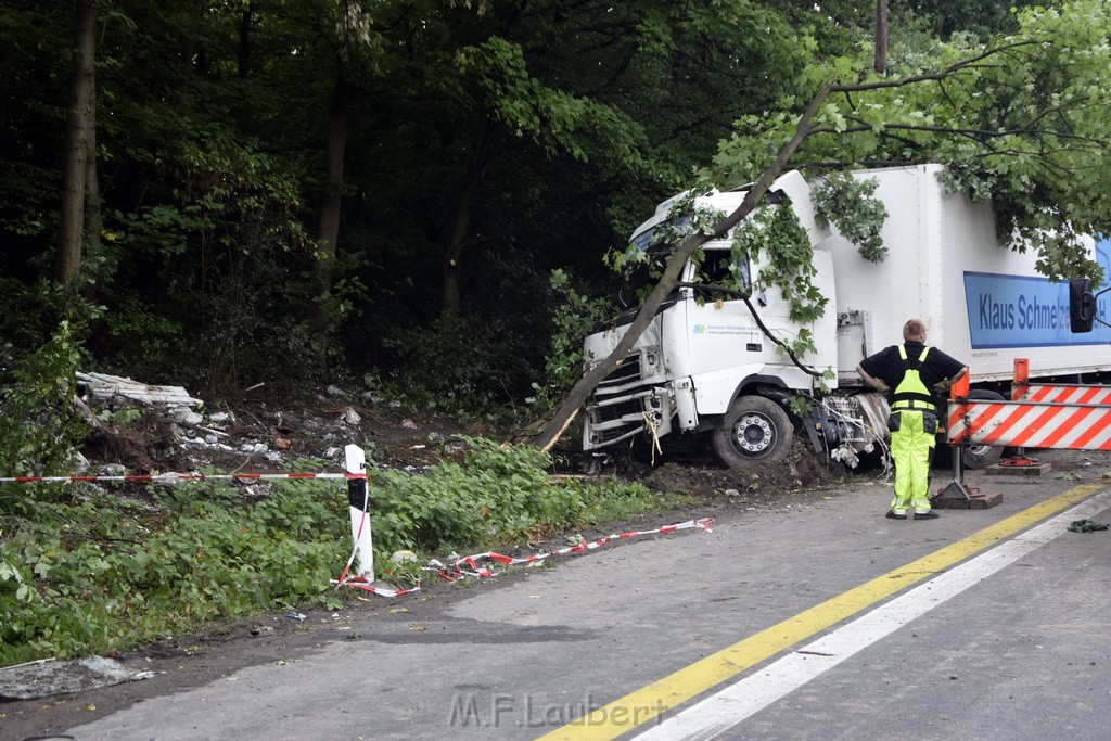
[[[783,649],[869,608],[895,592],[929,579],[1030,525],[1057,514],[1104,489],[1107,482],[1085,483],[1034,504],[917,561],[889,571],[771,628],[711,653],[679,671],[598,708],[584,718],[540,737],[541,741],[615,739],[633,728],[725,682]]]

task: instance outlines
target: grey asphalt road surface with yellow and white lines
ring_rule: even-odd
[[[68,733],[1111,738],[1111,531],[1067,529],[1111,521],[1111,455],[1083,455],[1079,480],[969,472],[1002,502],[935,521],[885,519],[882,485],[811,492],[450,604],[397,598],[409,612],[354,625],[358,640]]]

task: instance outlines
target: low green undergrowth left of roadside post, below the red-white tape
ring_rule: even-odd
[[[288,481],[250,508],[233,487],[156,489],[158,514],[98,492],[0,532],[0,664],[154,640],[198,621],[338,607],[329,579],[350,534],[341,498]],[[346,512],[344,512],[346,513]],[[313,535],[313,533],[319,533]]]

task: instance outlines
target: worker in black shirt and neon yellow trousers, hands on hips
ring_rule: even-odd
[[[938,433],[938,402],[968,367],[925,344],[925,324],[911,319],[903,326],[903,343],[892,344],[857,366],[857,372],[891,403],[891,458],[895,463],[895,493],[887,517],[935,520],[930,511],[930,461]],[[942,394],[939,399],[935,393]]]

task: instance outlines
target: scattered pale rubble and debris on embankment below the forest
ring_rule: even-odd
[[[327,387],[310,409],[290,412],[263,401],[240,401],[234,410],[227,404],[209,409],[181,387],[103,373],[79,373],[78,379],[89,417],[103,421],[82,451],[81,472],[111,471],[104,475],[201,467],[282,472],[298,459],[342,468],[343,447],[352,442],[367,448],[378,468],[417,471],[461,457],[466,445],[451,435],[476,433],[439,419],[422,420],[426,432],[417,433],[418,424],[402,419],[396,402],[349,395],[338,385]],[[119,413],[126,409],[141,413]]]

